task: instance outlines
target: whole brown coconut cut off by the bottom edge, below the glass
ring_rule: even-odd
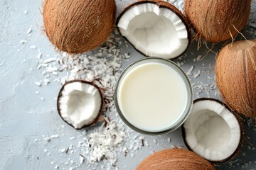
[[[186,149],[165,149],[144,159],[137,170],[213,170],[210,162]]]

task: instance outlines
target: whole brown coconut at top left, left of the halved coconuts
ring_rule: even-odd
[[[58,50],[80,53],[107,40],[115,12],[114,0],[45,0],[43,23]]]

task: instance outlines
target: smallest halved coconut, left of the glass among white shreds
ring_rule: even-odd
[[[60,117],[78,130],[95,123],[103,108],[100,88],[82,80],[64,84],[57,102]]]

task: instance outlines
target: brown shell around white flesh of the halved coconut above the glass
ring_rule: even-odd
[[[129,11],[129,9],[133,8],[134,6],[140,5],[140,4],[146,4],[146,3],[151,3],[151,4],[155,4],[157,6],[159,6],[159,8],[168,8],[169,10],[171,10],[172,12],[174,12],[176,14],[176,16],[178,16],[178,18],[181,19],[181,21],[184,23],[184,25],[186,26],[186,30],[188,32],[188,46],[189,44],[191,44],[191,28],[189,27],[189,21],[186,18],[186,16],[183,15],[183,13],[181,11],[178,10],[178,8],[176,8],[174,5],[170,4],[169,2],[166,1],[162,1],[162,0],[138,0],[136,2],[134,2],[133,4],[130,4],[129,6],[127,6],[126,8],[124,8],[124,10],[119,14],[119,16],[117,17],[117,21],[116,21],[116,26],[119,23],[120,18],[122,18],[122,16],[124,15],[124,13],[126,13],[127,11]],[[119,27],[117,26],[117,30],[120,32]],[[125,37],[124,37],[125,38]],[[127,38],[125,38],[125,40],[127,40],[129,42],[129,40]],[[143,52],[141,52],[140,50],[138,50],[132,43],[131,45],[134,47],[135,50],[137,50],[139,53],[141,53],[142,55],[149,57],[147,55],[145,55]],[[188,49],[188,47],[186,48],[186,50]],[[186,52],[186,50],[184,50],[184,52]],[[183,53],[184,53],[183,52]],[[181,55],[183,55],[183,53],[181,53]],[[181,55],[178,55],[177,57],[172,58],[171,60],[174,60],[178,57],[180,57]]]

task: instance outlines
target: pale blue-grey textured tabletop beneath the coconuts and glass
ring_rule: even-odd
[[[175,1],[174,4],[181,8],[182,2]],[[43,26],[41,3],[41,1],[32,0],[0,1],[0,169],[4,170],[55,169],[56,165],[59,166],[59,169],[69,169],[73,164],[79,162],[79,149],[76,149],[78,151],[76,154],[68,155],[59,151],[63,147],[78,145],[78,135],[81,135],[80,131],[75,131],[63,123],[55,110],[55,98],[61,85],[53,82],[47,86],[35,85],[36,81],[44,79],[41,72],[36,69],[38,50],[43,53],[43,59],[54,57],[57,54],[48,42],[46,35],[41,32],[41,26]],[[127,4],[128,1],[117,0],[118,13]],[[255,21],[253,17],[255,16],[252,16],[251,21]],[[32,31],[28,34],[27,31],[30,28]],[[247,38],[255,38],[256,29],[247,26],[242,33]],[[21,40],[27,42],[21,44]],[[129,52],[132,56],[129,61],[124,60],[122,64],[124,68],[127,64],[143,56],[136,52],[131,45],[127,47],[123,39],[122,42],[120,46],[122,51]],[[36,45],[36,49],[31,49],[31,45]],[[218,52],[221,46],[221,44],[215,45],[213,51]],[[215,54],[209,52],[202,61],[194,62],[193,60],[198,55],[204,56],[208,51],[204,45],[201,50],[196,50],[196,47],[197,42],[193,42],[186,54],[175,62],[183,62],[182,68],[185,71],[188,71],[193,65],[195,67],[193,74],[201,70],[201,75],[196,79],[193,78],[193,75],[190,76],[192,84],[202,83],[205,85],[203,91],[195,87],[195,98],[208,96],[220,98],[217,89],[210,90],[210,85],[214,84]],[[209,79],[210,77],[213,79]],[[36,94],[36,91],[39,91],[40,94]],[[119,119],[116,115],[113,117]],[[253,129],[255,123],[252,122],[248,125],[247,119],[244,119],[246,139],[242,152],[233,160],[216,166],[216,169],[256,169],[256,153],[252,149],[253,146],[256,146],[256,131]],[[88,131],[90,132],[90,129]],[[43,135],[59,135],[60,137],[46,142],[43,140]],[[137,135],[143,136],[136,132],[129,132],[129,137],[125,140],[124,145],[129,147]],[[75,139],[70,140],[70,137],[75,137]],[[185,147],[181,130],[163,136],[143,137],[149,142],[149,147],[131,151],[127,157],[124,157],[124,154],[118,154],[117,167],[119,169],[134,169],[142,159],[157,150],[173,146]],[[168,142],[169,137],[171,142]],[[75,163],[70,163],[71,160]],[[69,164],[65,165],[64,162],[69,162]],[[77,169],[88,169],[88,164],[85,161]],[[100,169],[100,166],[94,165],[90,169]]]

